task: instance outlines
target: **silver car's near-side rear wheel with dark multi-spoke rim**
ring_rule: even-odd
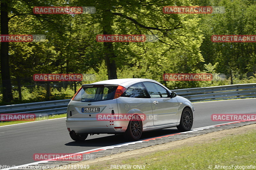
[[[139,140],[142,130],[143,127],[140,117],[138,115],[133,115],[124,133],[124,137],[129,141]]]

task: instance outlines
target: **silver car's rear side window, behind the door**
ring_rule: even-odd
[[[122,97],[148,98],[147,91],[142,83],[136,83],[128,87]]]

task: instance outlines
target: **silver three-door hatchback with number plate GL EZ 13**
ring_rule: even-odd
[[[83,141],[88,134],[119,134],[138,140],[142,132],[177,127],[189,131],[192,103],[151,79],[114,79],[83,84],[68,104],[70,137]]]

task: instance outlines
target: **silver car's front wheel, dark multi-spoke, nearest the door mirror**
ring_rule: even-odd
[[[193,113],[190,109],[185,108],[180,117],[180,125],[177,126],[179,131],[189,131],[193,126]]]

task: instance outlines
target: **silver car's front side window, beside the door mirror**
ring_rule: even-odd
[[[151,98],[166,98],[168,97],[168,92],[162,86],[152,83],[143,82]]]

